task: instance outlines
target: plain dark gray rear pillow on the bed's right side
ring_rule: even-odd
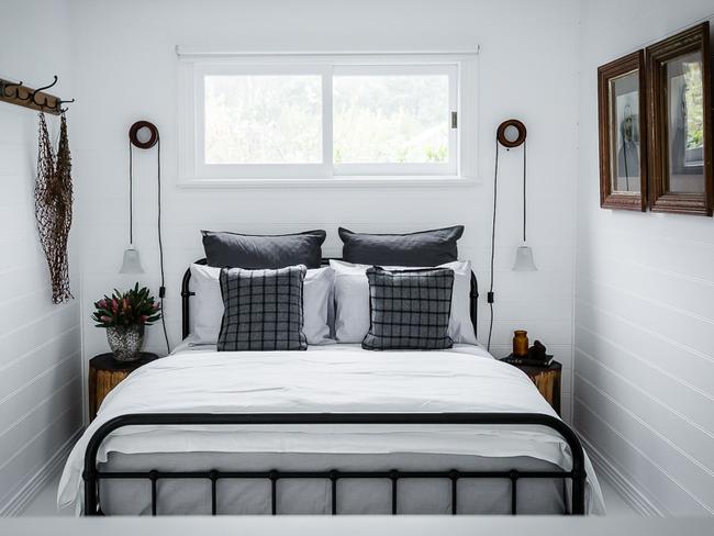
[[[343,259],[360,265],[438,266],[458,260],[464,226],[408,234],[353,233],[339,227]]]

